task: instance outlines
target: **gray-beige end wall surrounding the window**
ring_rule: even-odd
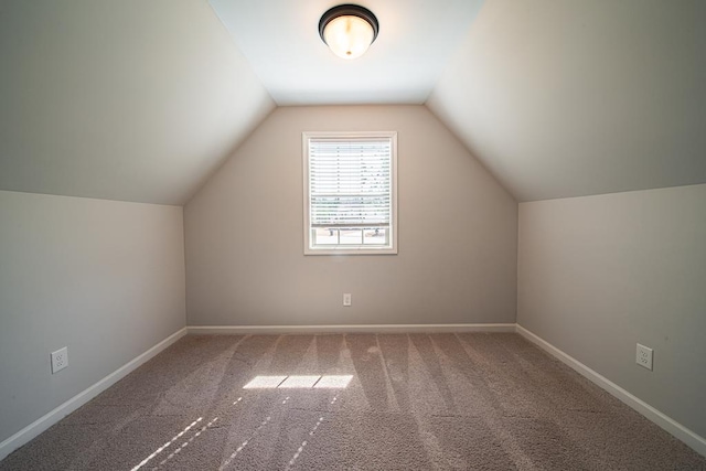
[[[303,256],[301,132],[334,130],[398,132],[398,255]],[[515,321],[517,204],[424,106],[278,108],[184,227],[190,325]]]

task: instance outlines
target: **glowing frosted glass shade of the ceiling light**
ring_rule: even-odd
[[[360,57],[374,39],[373,26],[360,17],[339,17],[323,29],[323,40],[335,55],[343,58]]]

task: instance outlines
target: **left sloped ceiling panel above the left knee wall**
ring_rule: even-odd
[[[2,0],[0,190],[183,204],[275,107],[206,0]]]

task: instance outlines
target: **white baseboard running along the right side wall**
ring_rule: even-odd
[[[573,370],[575,370],[580,375],[588,378],[593,384],[598,385],[602,389],[606,389],[612,396],[622,400],[624,404],[632,407],[638,413],[642,414],[644,417],[646,417],[657,426],[662,427],[667,432],[672,433],[674,437],[682,440],[684,443],[686,443],[692,449],[694,449],[694,451],[696,451],[697,453],[706,457],[706,438],[687,429],[676,420],[659,411],[657,409],[655,409],[644,400],[628,393],[625,389],[618,386],[616,383],[611,382],[607,377],[589,368],[588,366],[586,366],[578,360],[574,358],[573,356],[567,355],[556,346],[552,345],[549,342],[530,332],[527,329],[523,328],[520,324],[517,324],[517,333],[524,336],[525,339],[527,339],[530,342],[536,344],[537,346],[539,346],[542,350],[546,351],[550,355],[555,356],[566,365],[570,366]]]

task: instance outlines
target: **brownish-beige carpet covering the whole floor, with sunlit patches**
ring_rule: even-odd
[[[244,389],[258,376],[272,387]],[[197,335],[0,462],[64,469],[706,470],[706,459],[516,334]]]

